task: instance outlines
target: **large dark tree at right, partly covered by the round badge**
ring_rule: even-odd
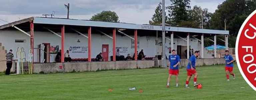
[[[239,29],[244,20],[256,9],[256,0],[226,0],[218,5],[211,17],[211,29],[229,30],[229,47],[235,47]]]

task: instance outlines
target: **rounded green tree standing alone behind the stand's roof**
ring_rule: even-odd
[[[118,15],[114,11],[102,11],[92,16],[92,21],[120,22]]]

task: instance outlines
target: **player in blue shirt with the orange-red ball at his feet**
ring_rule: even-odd
[[[185,88],[188,87],[188,83],[192,75],[194,75],[194,86],[197,86],[197,72],[196,72],[196,58],[199,56],[199,51],[195,51],[194,55],[189,58],[188,66],[187,66],[187,80]]]

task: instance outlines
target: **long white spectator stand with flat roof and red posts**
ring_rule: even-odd
[[[120,49],[121,55],[133,56],[136,40],[137,51],[144,49],[146,57],[161,55],[161,30],[161,26],[153,25],[30,17],[0,26],[0,43],[6,50],[13,49],[15,58],[18,47],[24,48],[26,55],[29,55],[30,48],[33,48],[34,62],[40,63],[55,62],[55,51],[58,47],[65,50],[62,52],[63,57],[66,50],[70,50],[70,56],[73,59],[92,59],[102,52],[104,58],[111,61],[111,56],[117,48]],[[166,27],[166,31],[166,48],[177,50],[181,58],[186,58],[185,50],[189,48],[193,48],[194,51],[204,51],[204,53],[201,52],[202,58],[210,58],[211,55],[207,55],[202,45],[203,39],[215,36],[213,42],[216,45],[216,35],[229,34],[229,31],[223,30],[183,27]],[[137,35],[135,35],[136,32]],[[227,41],[227,38],[225,40]],[[115,50],[113,50],[113,44],[115,44]],[[167,55],[168,52],[166,51]],[[89,57],[90,54],[91,57]]]

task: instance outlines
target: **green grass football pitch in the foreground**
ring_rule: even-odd
[[[237,66],[236,80],[226,82],[224,65],[198,67],[198,82],[203,88],[185,89],[186,69],[180,69],[179,88],[166,88],[168,69],[0,75],[0,100],[255,100]],[[231,76],[232,79],[232,76]],[[193,84],[193,79],[190,81]],[[136,91],[128,88],[136,87]],[[241,88],[244,87],[244,88]],[[109,92],[108,89],[113,89]],[[138,89],[143,89],[139,93]]]

